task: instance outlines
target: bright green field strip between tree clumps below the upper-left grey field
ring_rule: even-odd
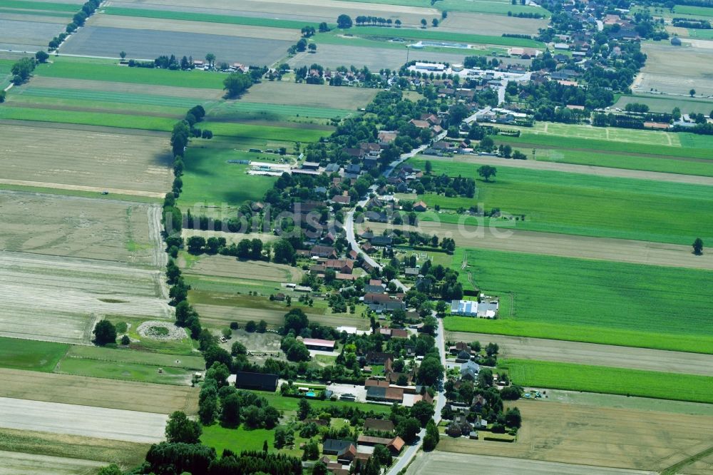
[[[93,58],[52,57],[51,63],[39,64],[36,76],[48,78],[92,79],[120,83],[150,84],[196,89],[222,89],[224,73],[200,71],[170,71],[155,68],[129,68],[118,61]]]

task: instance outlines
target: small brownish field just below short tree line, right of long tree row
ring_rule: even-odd
[[[201,257],[184,272],[187,275],[210,275],[270,282],[299,282],[302,277],[302,270],[297,267],[255,260],[240,261],[236,257],[225,255]]]

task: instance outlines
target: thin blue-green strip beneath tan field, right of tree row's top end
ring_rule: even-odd
[[[215,120],[219,121],[226,119],[284,121],[294,120],[294,118],[342,118],[354,113],[349,109],[235,101],[220,103],[215,108],[212,108],[209,113],[209,119],[215,118]]]

